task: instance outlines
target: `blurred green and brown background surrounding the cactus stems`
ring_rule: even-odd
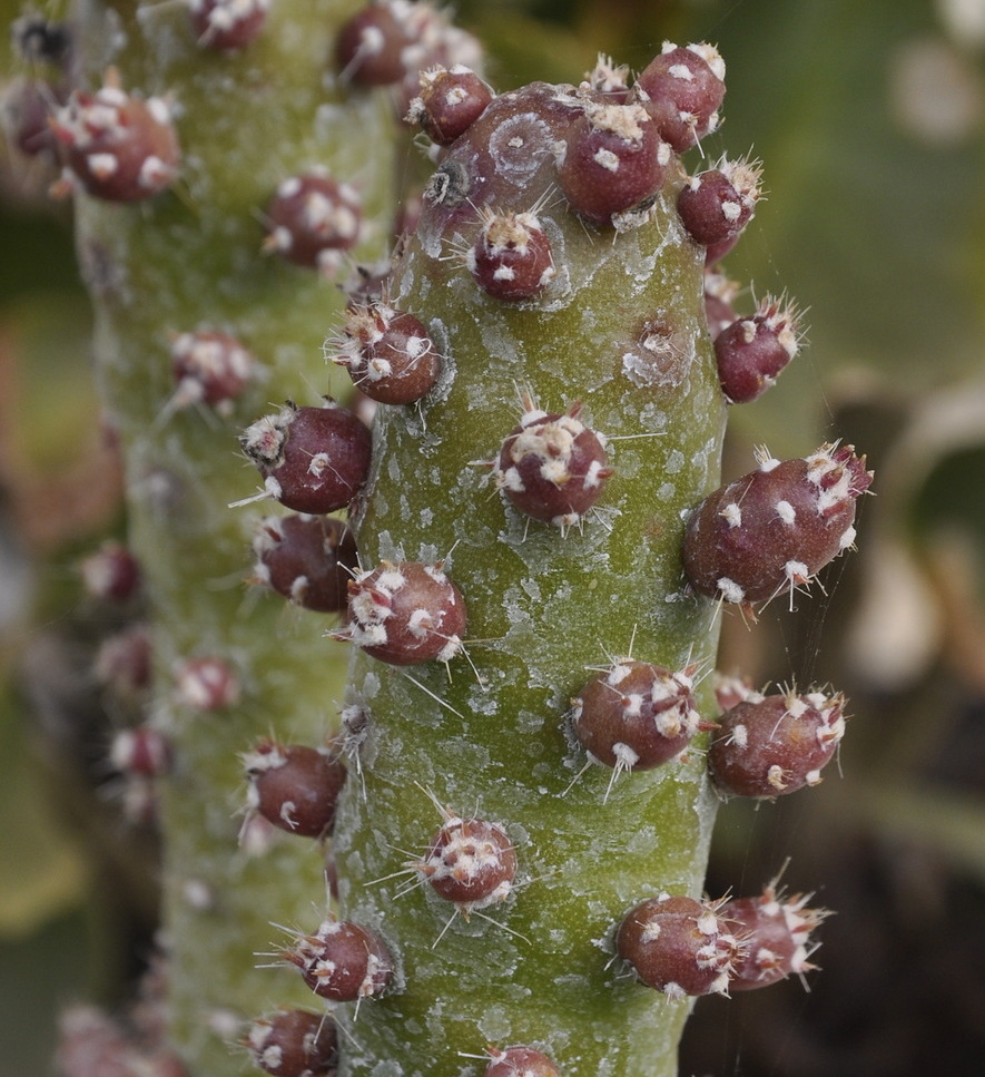
[[[786,292],[808,310],[809,341],[774,390],[733,409],[726,476],[751,468],[753,446],[802,456],[839,438],[877,472],[859,551],[835,562],[825,593],[792,611],[774,603],[752,629],[727,616],[722,644],[721,667],[757,686],[849,698],[840,774],[758,810],[725,805],[708,880],[712,895],[752,892],[786,864],[784,887],[837,912],[815,958],[824,971],[809,990],[700,1000],[680,1071],[978,1071],[985,0],[455,7],[500,89],[578,81],[599,51],[639,70],[664,39],[719,46],[725,123],[702,150],[751,151],[767,192],[726,262],[736,306]],[[0,0],[4,22],[21,10]],[[0,74],[9,85],[12,50]],[[152,828],[106,756],[137,704],[91,673],[140,610],[108,613],[81,582],[80,559],[124,520],[51,178],[45,159],[0,157],[2,1077],[48,1073],[58,1007],[122,997],[155,928]]]

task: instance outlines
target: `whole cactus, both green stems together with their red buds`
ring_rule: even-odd
[[[720,326],[720,346],[709,334],[707,266],[758,196],[758,167],[720,164],[742,205],[719,193],[729,227],[696,223],[690,196],[712,184],[689,180],[680,154],[717,124],[723,63],[710,46],[668,45],[636,80],[600,61],[580,85],[498,96],[437,50],[447,68],[405,102],[437,161],[416,231],[378,294],[354,295],[344,316],[336,300],[331,325],[325,277],[371,257],[385,231],[391,102],[359,82],[406,96],[391,52],[416,55],[405,38],[429,9],[393,0],[348,22],[326,101],[321,67],[351,4],[253,6],[242,37],[215,17],[224,7],[181,23],[187,11],[87,0],[85,77],[114,70],[55,124],[156,610],[171,1038],[193,1074],[234,1071],[221,1037],[237,1035],[280,1071],[270,1030],[312,1020],[257,1016],[287,990],[269,987],[279,975],[297,998],[306,986],[329,1000],[339,1074],[463,1077],[509,1071],[513,1055],[523,1073],[671,1074],[692,997],[727,990],[738,968],[757,977],[749,938],[699,900],[721,607],[755,616],[751,604],[809,582],[851,545],[870,480],[851,450],[825,447],[716,489],[729,404],[772,383],[797,334],[775,301],[735,333]],[[237,124],[293,138],[270,154],[233,139]],[[755,179],[736,179],[743,169]],[[334,400],[295,402],[312,395],[303,371],[327,382],[313,337],[331,330],[329,358],[380,402],[372,446]],[[749,355],[760,330],[776,345],[766,359]],[[188,334],[242,344],[249,361],[215,390],[208,356],[209,376],[178,368]],[[396,374],[388,350],[403,353]],[[287,403],[257,419],[265,354]],[[403,363],[424,375],[410,390]],[[743,376],[755,389],[733,390]],[[221,462],[237,419],[259,493],[239,461]],[[244,613],[235,586],[217,587],[248,548],[262,511],[248,503],[269,500],[305,516],[260,523],[259,579],[273,584],[269,558],[304,526],[314,551],[298,559],[321,544],[337,582],[341,525],[305,521],[346,506],[358,550],[329,633],[355,645],[349,777],[336,804],[333,773],[323,813],[289,787],[269,807],[260,783],[293,779],[303,747],[258,742],[258,726],[289,726],[326,765],[332,623],[317,613],[337,604],[308,600],[306,571],[274,585],[302,607],[279,646],[276,601]],[[598,719],[607,694],[620,713]],[[294,832],[254,860],[228,845],[224,819],[250,743],[248,823]],[[297,839],[329,828],[337,897],[308,933],[323,861]],[[290,924],[280,972],[247,971],[267,920]],[[634,948],[661,932],[702,944],[654,971]],[[779,975],[807,968],[798,943]],[[260,1031],[237,1034],[252,1017]]]

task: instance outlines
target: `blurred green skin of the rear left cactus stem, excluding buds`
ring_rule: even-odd
[[[256,519],[276,507],[228,503],[256,488],[236,451],[242,427],[270,399],[317,403],[331,388],[321,344],[339,292],[263,251],[275,188],[326,167],[372,222],[355,255],[386,246],[392,106],[331,78],[335,33],[356,7],[278,0],[235,52],[204,48],[184,3],[83,0],[77,10],[81,87],[96,90],[112,67],[122,90],[162,98],[181,153],[168,189],[134,204],[78,189],[76,209],[107,417],[127,461],[131,544],[154,606],[151,714],[173,743],[164,938],[170,1034],[194,1075],[240,1074],[249,1064],[230,1049],[240,1022],[292,997],[307,1001],[303,986],[257,972],[255,951],[279,942],[270,921],[308,916],[324,887],[319,846],[283,835],[265,855],[237,849],[240,753],[270,733],[323,743],[339,656],[323,619],[244,585]],[[262,372],[226,409],[174,405],[171,341],[201,326],[235,334]],[[196,657],[226,665],[235,702],[209,709],[221,698],[195,706],[176,696],[176,664]]]

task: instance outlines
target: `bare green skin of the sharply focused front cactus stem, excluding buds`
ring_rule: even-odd
[[[661,890],[701,894],[716,806],[707,741],[614,774],[587,761],[565,714],[598,669],[631,656],[693,667],[713,717],[701,674],[716,605],[686,593],[680,547],[687,511],[719,481],[726,409],[703,249],[674,208],[677,157],[652,205],[619,227],[577,216],[558,192],[559,131],[590,98],[542,85],[498,98],[444,157],[387,292],[429,327],[444,371],[418,404],[380,408],[355,513],[361,560],[441,564],[467,630],[446,663],[356,650],[351,666],[361,775],[336,817],[341,916],[378,932],[397,972],[388,993],[336,1011],[346,1077],[477,1075],[489,1045],[514,1044],[568,1077],[677,1071],[691,1000],[637,982],[613,960],[613,934]],[[554,273],[530,298],[482,284],[470,252],[495,214],[533,214],[521,225],[548,237]],[[500,447],[525,409],[579,403],[613,473],[577,520],[531,519],[504,496]],[[481,914],[414,868],[439,806],[513,842],[514,884]]]

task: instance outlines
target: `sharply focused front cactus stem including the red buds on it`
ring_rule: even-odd
[[[712,801],[727,793],[708,744],[728,740],[703,672],[725,603],[751,611],[851,545],[870,474],[825,446],[712,492],[728,407],[772,384],[799,326],[772,298],[743,322],[738,290],[717,266],[706,277],[751,216],[758,165],[723,158],[706,204],[682,198],[701,184],[678,153],[717,125],[721,58],[668,46],[644,75],[632,84],[600,61],[579,86],[492,95],[457,138],[437,133],[416,232],[385,285],[443,371],[414,409],[377,411],[349,519],[362,564],[384,567],[352,585],[336,634],[359,648],[347,703],[362,716],[362,781],[343,792],[333,839],[339,907],[385,921],[404,970],[352,1026],[354,1071],[406,1059],[397,1037],[437,1009],[442,1042],[433,1029],[415,1040],[415,1075],[455,1073],[451,1044],[476,1035],[534,1044],[562,1073],[671,1073],[687,998],[727,993],[740,967],[759,976],[743,963],[752,928],[733,931],[721,901],[700,899]],[[436,81],[411,110],[424,131]],[[520,423],[503,431],[518,396]],[[469,610],[467,636],[455,631],[467,664],[457,652],[411,663],[390,637],[417,616],[423,638],[434,615],[411,604],[408,620],[400,589],[378,581],[445,557]],[[611,657],[627,646],[637,657]],[[792,792],[816,781],[840,725],[816,694],[785,707],[825,726],[802,774],[792,750],[781,775],[767,766]],[[400,773],[467,804],[470,825],[509,820],[524,881],[511,878],[493,922],[436,908],[444,841],[397,870],[387,850],[421,841],[420,797]],[[431,885],[408,885],[407,870]],[[804,952],[776,967],[802,971]],[[463,973],[473,960],[481,982]],[[591,1006],[560,987],[569,979]]]

